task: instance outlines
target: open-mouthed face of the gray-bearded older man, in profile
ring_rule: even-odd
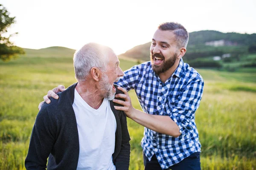
[[[116,88],[113,86],[114,82],[117,82],[124,73],[119,67],[119,59],[113,51],[109,51],[107,71],[102,72],[102,79],[100,80],[100,86],[104,93],[104,98],[113,100],[115,98]]]

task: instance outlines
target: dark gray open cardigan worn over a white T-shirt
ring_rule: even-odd
[[[42,105],[35,120],[25,160],[28,170],[75,170],[79,158],[79,136],[73,110],[74,90],[77,83],[59,93],[59,99],[51,98],[50,104]],[[122,93],[116,88],[116,93]],[[130,136],[126,115],[115,110],[116,142],[113,163],[116,170],[128,170],[130,162]],[[48,159],[48,166],[47,158]]]

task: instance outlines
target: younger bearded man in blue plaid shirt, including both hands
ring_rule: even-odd
[[[200,170],[201,144],[195,125],[204,88],[200,74],[183,62],[189,34],[179,23],[162,23],[152,38],[151,61],[135,65],[117,82],[125,99],[113,102],[145,127],[141,141],[145,170]],[[124,89],[125,88],[125,89]],[[134,109],[127,91],[134,89],[143,112]],[[58,86],[54,91],[64,90]],[[57,97],[53,91],[44,96]],[[40,107],[40,105],[39,105]],[[147,113],[147,114],[145,114]]]

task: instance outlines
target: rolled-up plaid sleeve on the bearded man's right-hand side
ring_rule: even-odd
[[[195,119],[195,111],[198,109],[203,95],[204,81],[197,79],[191,82],[182,91],[171,108],[171,119],[180,127],[180,133],[192,129],[192,119]]]

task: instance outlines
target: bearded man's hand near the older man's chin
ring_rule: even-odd
[[[128,92],[124,88],[122,87],[117,87],[117,88],[122,92],[124,92],[124,94],[116,94],[116,98],[122,98],[122,99],[125,99],[125,101],[113,99],[113,102],[123,105],[123,106],[114,106],[114,107],[116,110],[124,111],[126,116],[131,118],[135,110],[135,108],[131,105],[131,98]]]

